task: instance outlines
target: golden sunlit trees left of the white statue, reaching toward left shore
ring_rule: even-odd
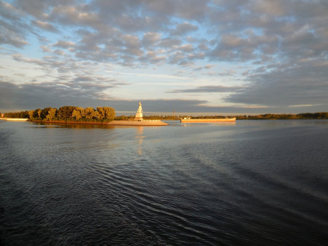
[[[115,118],[115,109],[110,107],[81,108],[75,106],[63,106],[59,109],[44,108],[17,113],[5,113],[4,117],[28,118],[31,120],[64,120],[75,122],[109,122]]]

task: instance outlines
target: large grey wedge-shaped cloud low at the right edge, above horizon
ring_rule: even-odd
[[[297,66],[251,74],[250,84],[226,102],[264,106],[328,105],[328,64],[307,60]]]

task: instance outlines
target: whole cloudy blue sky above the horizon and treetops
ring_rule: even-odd
[[[327,0],[0,0],[0,112],[327,112],[327,13]]]

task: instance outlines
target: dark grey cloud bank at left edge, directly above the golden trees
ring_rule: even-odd
[[[103,94],[104,90],[117,87],[117,85],[110,82],[103,83],[103,80],[104,78],[100,77],[80,76],[67,82],[17,85],[2,79],[0,80],[0,104],[8,109],[25,108],[26,110],[35,107],[46,107],[44,105],[51,107],[60,107],[66,104],[87,106],[89,102],[95,105],[96,102],[102,102],[98,98],[105,96]],[[30,98],[33,98],[33,100],[30,100]]]

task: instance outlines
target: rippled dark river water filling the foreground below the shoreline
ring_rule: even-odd
[[[1,245],[327,245],[328,121],[0,121]]]

